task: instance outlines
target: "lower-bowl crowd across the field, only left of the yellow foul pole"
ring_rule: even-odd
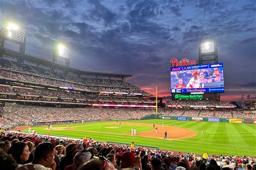
[[[16,107],[17,106],[17,107]],[[54,108],[27,107],[20,105],[5,106],[2,127],[27,125],[46,122],[81,122],[101,120],[139,120],[141,117],[154,114],[154,109],[135,108]]]

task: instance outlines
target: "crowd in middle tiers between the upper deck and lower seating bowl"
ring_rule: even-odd
[[[153,105],[154,101],[143,98],[131,98],[131,97],[112,97],[101,95],[87,95],[87,94],[75,94],[72,92],[58,92],[49,90],[33,90],[31,88],[18,88],[18,87],[6,87],[1,88],[0,93],[3,93],[2,98],[6,99],[18,99],[18,100],[32,100],[32,101],[53,101],[53,102],[72,102],[72,103],[100,103],[108,102],[113,104],[115,102],[121,102],[122,104],[134,103],[135,105]],[[8,93],[8,95],[4,95]],[[18,97],[16,94],[20,94]],[[0,94],[1,95],[1,94]],[[5,97],[4,97],[5,96]],[[48,98],[50,97],[50,98]],[[58,99],[58,98],[61,98]],[[73,100],[75,99],[75,100]],[[93,102],[94,101],[94,102]]]

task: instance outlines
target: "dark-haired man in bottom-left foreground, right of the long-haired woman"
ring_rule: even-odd
[[[34,152],[32,163],[25,164],[17,170],[56,170],[56,163],[53,160],[56,153],[54,146],[50,142],[43,142],[38,145]]]

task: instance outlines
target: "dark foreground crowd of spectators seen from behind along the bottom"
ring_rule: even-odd
[[[144,146],[4,131],[0,167],[15,169],[255,170],[256,157],[156,150]],[[100,163],[99,163],[100,161]]]

